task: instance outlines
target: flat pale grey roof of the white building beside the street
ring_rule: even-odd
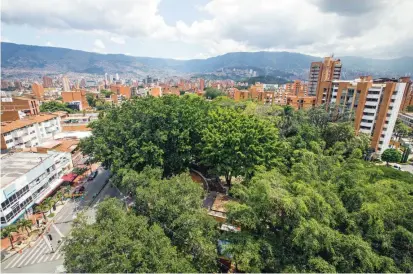
[[[35,168],[52,154],[18,152],[1,155],[1,188]]]

